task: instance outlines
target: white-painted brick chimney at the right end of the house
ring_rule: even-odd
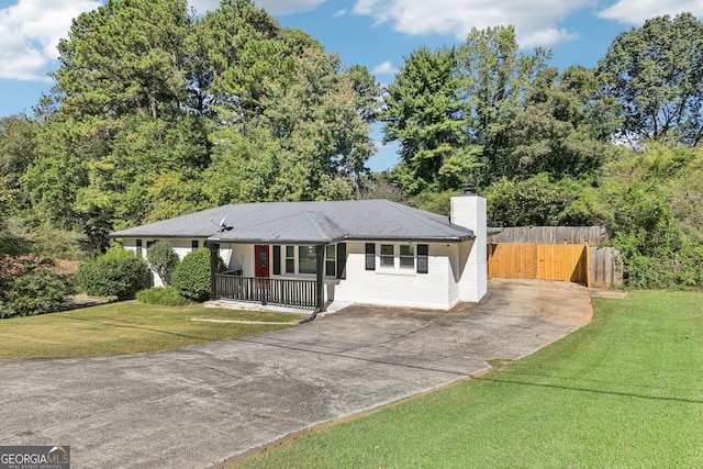
[[[476,239],[468,260],[461,258],[459,298],[461,301],[479,302],[488,293],[488,239],[486,199],[467,187],[462,196],[451,198],[451,223],[473,231]],[[466,250],[459,248],[459,253]],[[461,256],[464,257],[464,256]],[[465,264],[466,263],[466,264]]]

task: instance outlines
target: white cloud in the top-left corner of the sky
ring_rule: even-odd
[[[58,40],[71,20],[94,10],[97,0],[18,0],[0,9],[0,78],[46,80],[46,67],[58,57]]]

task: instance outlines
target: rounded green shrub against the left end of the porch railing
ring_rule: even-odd
[[[224,271],[224,261],[217,258],[217,271]],[[210,298],[210,249],[202,248],[189,253],[176,267],[172,286],[181,297],[193,301]]]

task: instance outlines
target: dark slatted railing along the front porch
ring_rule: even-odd
[[[315,287],[314,280],[241,277],[226,272],[215,276],[217,300],[314,309],[317,298]]]

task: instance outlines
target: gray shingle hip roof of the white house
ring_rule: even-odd
[[[226,230],[217,223],[226,216]],[[111,237],[210,237],[224,243],[316,244],[343,239],[457,242],[471,230],[388,200],[224,205],[122,230]]]

